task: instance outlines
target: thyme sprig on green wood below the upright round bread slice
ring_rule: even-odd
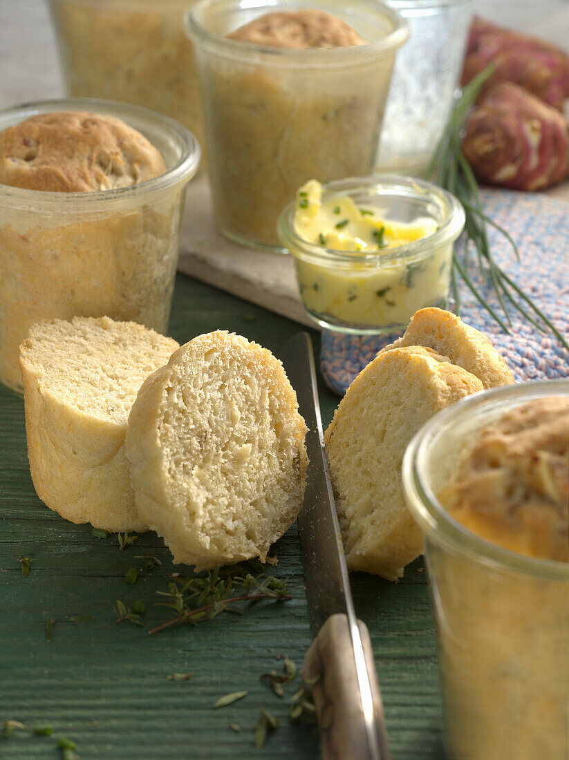
[[[255,577],[250,572],[238,575],[239,572],[239,568],[221,572],[217,565],[206,575],[190,578],[170,575],[168,591],[156,592],[165,600],[158,602],[157,606],[174,610],[176,616],[155,626],[148,633],[152,635],[178,623],[195,624],[211,620],[226,611],[242,615],[244,610],[243,606],[238,606],[239,603],[251,603],[262,599],[291,599],[286,581],[281,581],[273,575]]]

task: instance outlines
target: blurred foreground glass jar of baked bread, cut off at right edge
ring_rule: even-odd
[[[568,412],[566,380],[483,391],[437,414],[405,452],[451,760],[569,758]]]

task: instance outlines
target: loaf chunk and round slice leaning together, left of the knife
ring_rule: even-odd
[[[21,371],[33,484],[62,517],[151,527],[196,568],[265,559],[297,517],[306,426],[269,350],[77,317],[33,325]]]

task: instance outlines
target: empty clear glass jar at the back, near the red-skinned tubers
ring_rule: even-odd
[[[453,107],[472,0],[386,0],[407,21],[412,42],[397,56],[377,168],[421,175]]]

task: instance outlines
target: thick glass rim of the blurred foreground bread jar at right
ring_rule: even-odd
[[[569,563],[538,559],[506,549],[472,533],[454,520],[431,489],[426,473],[428,451],[458,416],[475,416],[482,409],[511,408],[508,401],[520,404],[534,398],[569,395],[569,380],[536,380],[478,391],[437,413],[409,442],[402,462],[402,485],[408,509],[421,530],[436,543],[454,553],[474,559],[496,571],[517,572],[536,578],[569,581]],[[468,419],[468,417],[466,417]]]

